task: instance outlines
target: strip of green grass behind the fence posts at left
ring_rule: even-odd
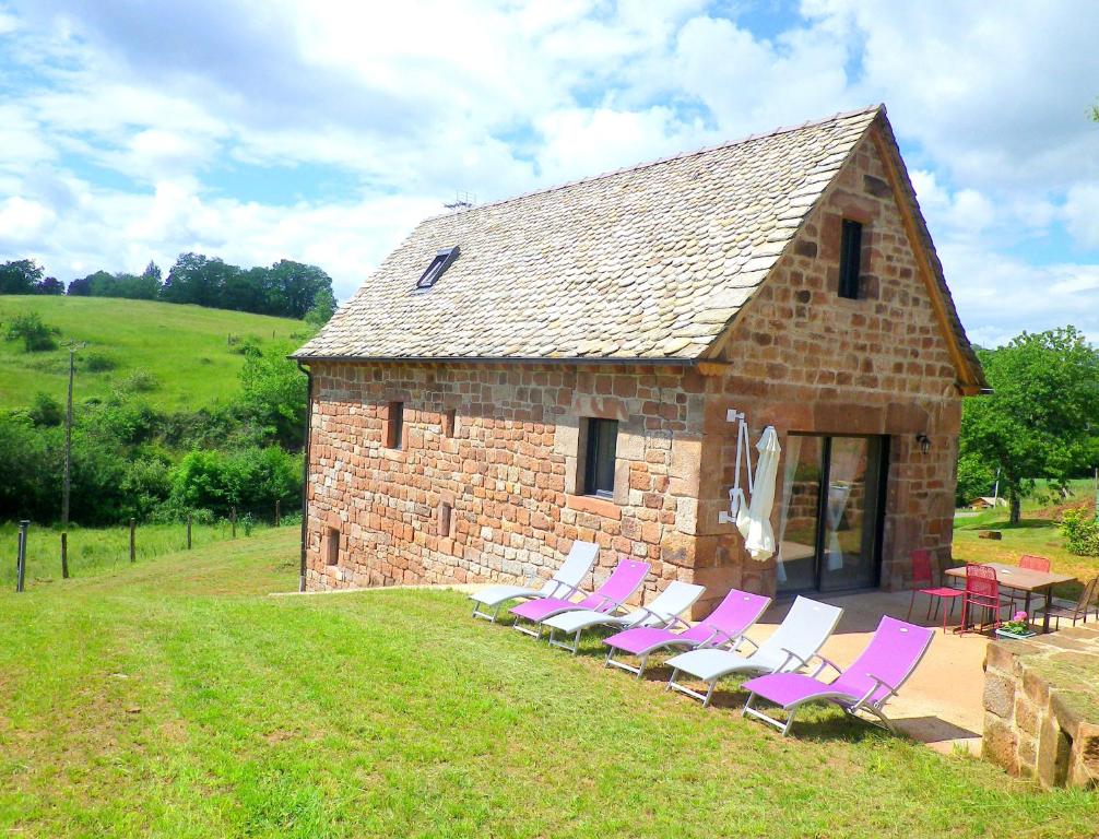
[[[290,526],[287,520],[286,526]],[[253,532],[266,529],[257,525]],[[231,539],[232,526],[227,521],[213,525],[191,526],[192,549]],[[236,534],[246,538],[246,529],[237,522]],[[62,578],[62,537],[57,527],[32,525],[27,530],[25,584],[34,586]],[[187,548],[187,525],[137,526],[134,533],[135,561],[151,560],[166,553],[176,553]],[[0,522],[0,586],[11,587],[15,582],[15,556],[19,553],[19,526],[15,522]],[[130,528],[81,528],[69,527],[68,564],[70,576],[98,574],[104,570],[129,564]]]

